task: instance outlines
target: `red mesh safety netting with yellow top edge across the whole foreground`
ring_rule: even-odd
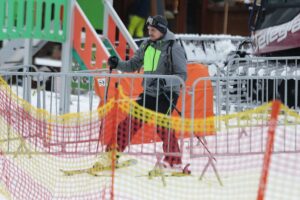
[[[144,109],[121,87],[119,91],[119,96],[110,98],[98,110],[54,116],[19,98],[0,79],[2,194],[13,199],[257,197],[271,104],[231,115],[183,120]],[[118,126],[126,118],[125,125]],[[281,106],[278,120],[265,198],[296,199],[300,117]],[[116,137],[119,128],[125,130]],[[122,136],[134,129],[140,132],[132,138]],[[200,143],[190,135],[192,130],[196,136],[203,136],[204,130],[211,135]],[[178,149],[172,143],[173,136],[187,145]],[[199,143],[192,145],[192,141]],[[111,157],[104,159],[109,156],[104,152],[110,143],[121,144],[118,148],[125,152],[119,164],[114,163],[115,169]],[[157,169],[160,155],[167,157],[178,151],[183,155],[182,162],[190,164],[191,175],[161,174],[159,170],[150,173]]]

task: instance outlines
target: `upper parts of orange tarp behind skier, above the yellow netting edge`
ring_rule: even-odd
[[[209,77],[208,68],[205,65],[192,63],[187,65],[188,69],[188,78],[186,80],[186,97],[185,97],[185,117],[191,117],[191,104],[192,96],[189,94],[192,90],[192,84],[194,81],[201,77]],[[101,105],[104,103],[103,99],[105,98],[105,90],[108,89],[108,100],[115,95],[115,84],[120,82],[124,93],[127,96],[132,96],[133,98],[137,97],[140,93],[143,92],[142,88],[142,79],[130,79],[130,78],[101,78],[97,77],[95,79],[95,91],[97,95],[102,99]],[[108,84],[109,87],[106,88],[105,85]],[[213,87],[211,81],[201,80],[195,87],[195,106],[194,106],[194,118],[205,118],[213,116]],[[182,108],[182,96],[177,103],[177,108],[180,110]],[[174,116],[178,116],[177,112],[173,112]]]

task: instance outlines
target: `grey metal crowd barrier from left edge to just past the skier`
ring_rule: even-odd
[[[178,109],[183,114],[177,117],[177,120],[179,123],[184,122],[185,85],[177,76],[126,75],[105,72],[93,74],[82,72],[72,74],[1,72],[1,76],[8,84],[5,86],[3,81],[0,84],[1,118],[10,124],[5,131],[7,137],[2,138],[2,142],[7,143],[6,153],[16,151],[12,148],[15,145],[13,141],[19,140],[21,136],[33,146],[32,153],[97,154],[105,151],[105,145],[108,144],[107,137],[117,133],[116,127],[112,125],[116,126],[128,115],[130,116],[128,118],[129,123],[123,128],[133,131],[131,126],[139,126],[137,129],[141,129],[139,132],[141,139],[135,142],[138,145],[131,145],[131,131],[129,131],[126,152],[128,154],[162,154],[161,147],[157,145],[158,141],[154,139],[151,146],[149,139],[147,139],[149,133],[144,130],[153,131],[150,134],[151,138],[156,137],[157,127],[165,128],[168,135],[172,135],[174,130],[172,126],[168,125],[171,117],[170,112],[166,116],[160,116],[157,112],[151,113],[149,110],[143,109],[143,106],[148,104],[148,98],[145,95],[139,96],[142,91],[141,84],[145,86],[151,81],[153,82],[151,87],[156,91],[156,93],[153,93],[155,94],[153,98],[156,99],[154,107],[156,111],[162,106],[166,106],[160,102],[159,98],[161,99],[161,96],[170,100],[170,104],[167,105],[169,108],[174,108],[175,105],[171,103],[176,98],[173,89],[176,85],[181,86],[181,107],[178,107]],[[72,113],[66,115],[59,115],[61,95],[64,95],[59,93],[62,79],[69,80],[70,85],[71,80],[73,80],[72,84],[77,84],[77,87],[73,87],[73,94],[71,95]],[[170,86],[169,89],[163,91],[160,80],[166,80],[166,83]],[[23,98],[25,83],[28,88],[32,88],[31,91],[26,91],[26,95],[29,96],[29,104]],[[116,83],[121,86],[120,88],[123,88],[122,93],[124,94],[119,94],[119,99],[110,102],[117,95],[117,89],[114,89]],[[86,90],[82,90],[81,84],[85,84]],[[98,94],[95,93],[95,90]],[[99,94],[101,92],[102,94]],[[99,95],[102,98],[99,98]],[[157,98],[158,96],[159,98]],[[144,99],[139,101],[142,106],[137,107],[135,101],[141,98]],[[112,111],[112,105],[117,106],[116,111]],[[113,112],[119,114],[109,115]],[[135,123],[133,123],[134,120]],[[149,120],[151,121],[149,122],[150,125],[147,124]],[[184,138],[181,132],[183,125],[177,124],[176,127],[179,127],[175,128],[176,134],[182,136],[178,138],[182,147]],[[20,136],[12,136],[14,132],[17,132]],[[134,148],[131,148],[131,146]],[[171,150],[169,150],[170,147],[167,148],[169,152],[167,154],[172,155]],[[176,155],[178,153],[181,154],[181,152],[177,152]]]

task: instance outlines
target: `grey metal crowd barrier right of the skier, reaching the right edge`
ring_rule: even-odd
[[[251,97],[255,93],[256,88],[249,87],[246,84],[254,80],[272,80],[277,83],[286,79],[294,80],[295,82],[300,80],[297,76],[214,77],[197,79],[190,92],[193,101],[196,101],[196,88],[200,84],[203,85],[202,87],[208,88],[204,89],[204,92],[201,91],[203,92],[203,96],[206,96],[209,90],[209,87],[206,85],[211,83],[214,86],[214,112],[217,113],[214,117],[216,134],[203,138],[194,136],[191,140],[191,155],[234,156],[264,154],[266,132],[270,120],[270,107],[264,107],[267,101],[254,102]],[[230,83],[233,82],[235,83],[234,90],[230,87]],[[287,90],[284,91],[284,93],[287,92]],[[276,88],[269,88],[267,92],[276,93]],[[194,105],[192,103],[192,106]],[[205,105],[203,106],[205,109]],[[193,111],[194,108],[191,108],[191,110]],[[300,143],[298,142],[300,135],[297,131],[299,127],[299,115],[296,110],[287,110],[289,109],[284,107],[281,111],[276,134],[282,141],[273,149],[274,153],[300,152]],[[291,115],[291,113],[293,114]],[[193,119],[193,115],[194,113],[192,113],[191,119]],[[203,118],[205,117],[203,116]],[[203,148],[203,145],[205,148]],[[199,148],[201,151],[199,151]]]

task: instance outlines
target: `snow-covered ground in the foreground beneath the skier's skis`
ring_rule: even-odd
[[[283,116],[284,117],[284,116]],[[232,119],[234,120],[234,119]],[[0,119],[0,125],[5,126]],[[296,127],[283,127],[277,129],[275,150],[286,146],[286,150],[300,148],[297,140]],[[200,180],[202,172],[208,162],[208,157],[203,153],[204,146],[195,141],[191,146],[190,140],[184,141],[183,163],[190,164],[191,176],[185,177],[148,177],[157,162],[155,152],[162,152],[161,143],[132,145],[131,155],[121,155],[119,162],[128,159],[137,159],[137,164],[126,168],[117,169],[114,175],[114,199],[256,199],[263,163],[263,149],[265,149],[267,127],[246,128],[240,135],[240,128],[231,128],[229,132],[223,127],[217,133],[218,137],[207,137],[208,149],[212,153],[225,153],[216,156],[213,164],[218,175],[213,170],[213,165],[208,165],[208,170]],[[17,134],[12,132],[13,134]],[[11,148],[18,148],[18,144],[10,144]],[[27,148],[31,148],[27,145]],[[34,146],[32,147],[34,148]],[[190,150],[193,149],[191,155]],[[296,148],[296,149],[295,149]],[[154,149],[156,151],[154,151]],[[12,150],[12,149],[11,149]],[[141,152],[152,152],[152,155],[141,155]],[[136,155],[136,153],[140,153]],[[206,154],[207,155],[207,154]],[[60,170],[87,169],[96,162],[101,161],[101,155],[46,155],[32,154],[6,156],[6,180],[11,183],[27,184],[30,193],[11,185],[11,189],[27,197],[60,198],[111,198],[111,172],[101,172],[95,177],[88,173],[65,176]],[[296,200],[300,196],[300,157],[299,153],[273,154],[270,165],[267,197],[270,200]],[[30,177],[30,178],[28,178]],[[220,181],[218,181],[218,178]],[[34,184],[35,183],[35,184]],[[39,184],[36,184],[39,183]],[[33,189],[38,187],[38,189]],[[28,191],[27,191],[28,192]]]

